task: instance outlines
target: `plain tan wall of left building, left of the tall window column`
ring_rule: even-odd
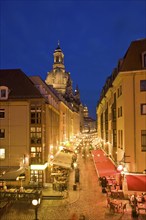
[[[0,102],[5,118],[0,119],[0,128],[5,130],[5,138],[0,139],[0,147],[5,149],[5,159],[1,166],[17,166],[23,163],[24,155],[29,155],[29,103]]]

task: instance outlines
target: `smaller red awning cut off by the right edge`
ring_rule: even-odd
[[[126,174],[126,179],[129,191],[146,192],[145,174]]]

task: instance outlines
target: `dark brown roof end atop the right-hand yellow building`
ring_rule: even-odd
[[[146,38],[131,42],[120,67],[120,71],[142,70],[142,53],[146,52]]]

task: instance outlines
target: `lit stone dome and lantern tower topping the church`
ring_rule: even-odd
[[[69,72],[66,72],[64,66],[64,54],[60,48],[60,43],[55,49],[53,69],[47,73],[46,84],[52,85],[58,92],[63,95],[66,92],[66,86],[69,79]]]

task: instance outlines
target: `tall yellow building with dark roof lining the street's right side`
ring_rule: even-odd
[[[131,42],[97,104],[102,148],[124,171],[146,169],[146,39]]]

